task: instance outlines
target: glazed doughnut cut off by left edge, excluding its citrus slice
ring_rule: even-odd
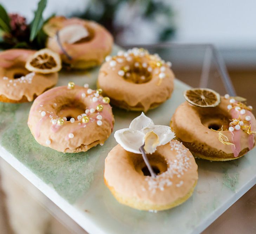
[[[58,73],[39,74],[25,68],[35,51],[8,49],[0,52],[0,101],[21,103],[33,101],[39,94],[56,85]]]

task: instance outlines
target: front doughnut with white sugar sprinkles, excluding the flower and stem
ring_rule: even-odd
[[[147,155],[156,178],[145,175],[139,154],[115,146],[105,159],[104,180],[122,204],[139,210],[165,210],[187,200],[196,186],[197,165],[182,143],[171,140]]]

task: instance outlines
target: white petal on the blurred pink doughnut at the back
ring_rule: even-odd
[[[86,38],[88,35],[87,29],[79,24],[67,25],[59,31],[60,42],[68,44],[73,44],[82,38]]]

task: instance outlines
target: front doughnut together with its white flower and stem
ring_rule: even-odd
[[[189,150],[173,140],[169,126],[154,125],[142,113],[114,138],[118,145],[105,159],[104,181],[120,203],[139,210],[165,210],[192,195],[197,165]]]

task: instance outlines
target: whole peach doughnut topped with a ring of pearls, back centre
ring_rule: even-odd
[[[174,78],[170,66],[170,62],[145,49],[119,51],[117,56],[106,57],[97,86],[110,97],[111,104],[146,112],[170,98]]]

